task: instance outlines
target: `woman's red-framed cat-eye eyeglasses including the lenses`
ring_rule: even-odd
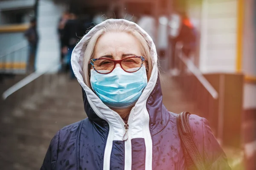
[[[140,68],[143,66],[144,61],[145,58],[142,56],[126,57],[120,60],[114,60],[109,58],[96,58],[90,59],[89,64],[91,64],[93,66],[93,69],[100,74],[111,73],[116,67],[117,63],[121,65],[121,68],[124,71],[128,73],[133,73],[140,70]]]

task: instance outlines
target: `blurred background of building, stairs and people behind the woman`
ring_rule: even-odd
[[[0,0],[0,169],[39,169],[87,117],[70,56],[106,18],[151,35],[168,110],[207,118],[233,170],[256,170],[255,0]]]

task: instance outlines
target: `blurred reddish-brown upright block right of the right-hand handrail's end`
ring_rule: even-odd
[[[221,144],[230,147],[241,147],[241,118],[243,109],[243,79],[242,74],[204,74],[213,88],[219,94],[218,110],[215,117],[218,117],[218,125],[209,119],[210,126],[217,130],[217,136]]]

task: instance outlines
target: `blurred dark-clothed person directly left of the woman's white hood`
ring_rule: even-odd
[[[71,78],[75,78],[73,70],[71,68],[71,54],[80,38],[84,35],[83,24],[79,20],[76,14],[71,13],[69,20],[67,20],[64,26],[63,42],[64,46],[62,52],[66,54],[66,63],[69,66]]]

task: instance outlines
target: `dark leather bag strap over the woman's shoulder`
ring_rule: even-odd
[[[177,128],[180,134],[187,170],[205,170],[204,161],[190,132],[189,115],[189,112],[182,112],[177,116]]]

